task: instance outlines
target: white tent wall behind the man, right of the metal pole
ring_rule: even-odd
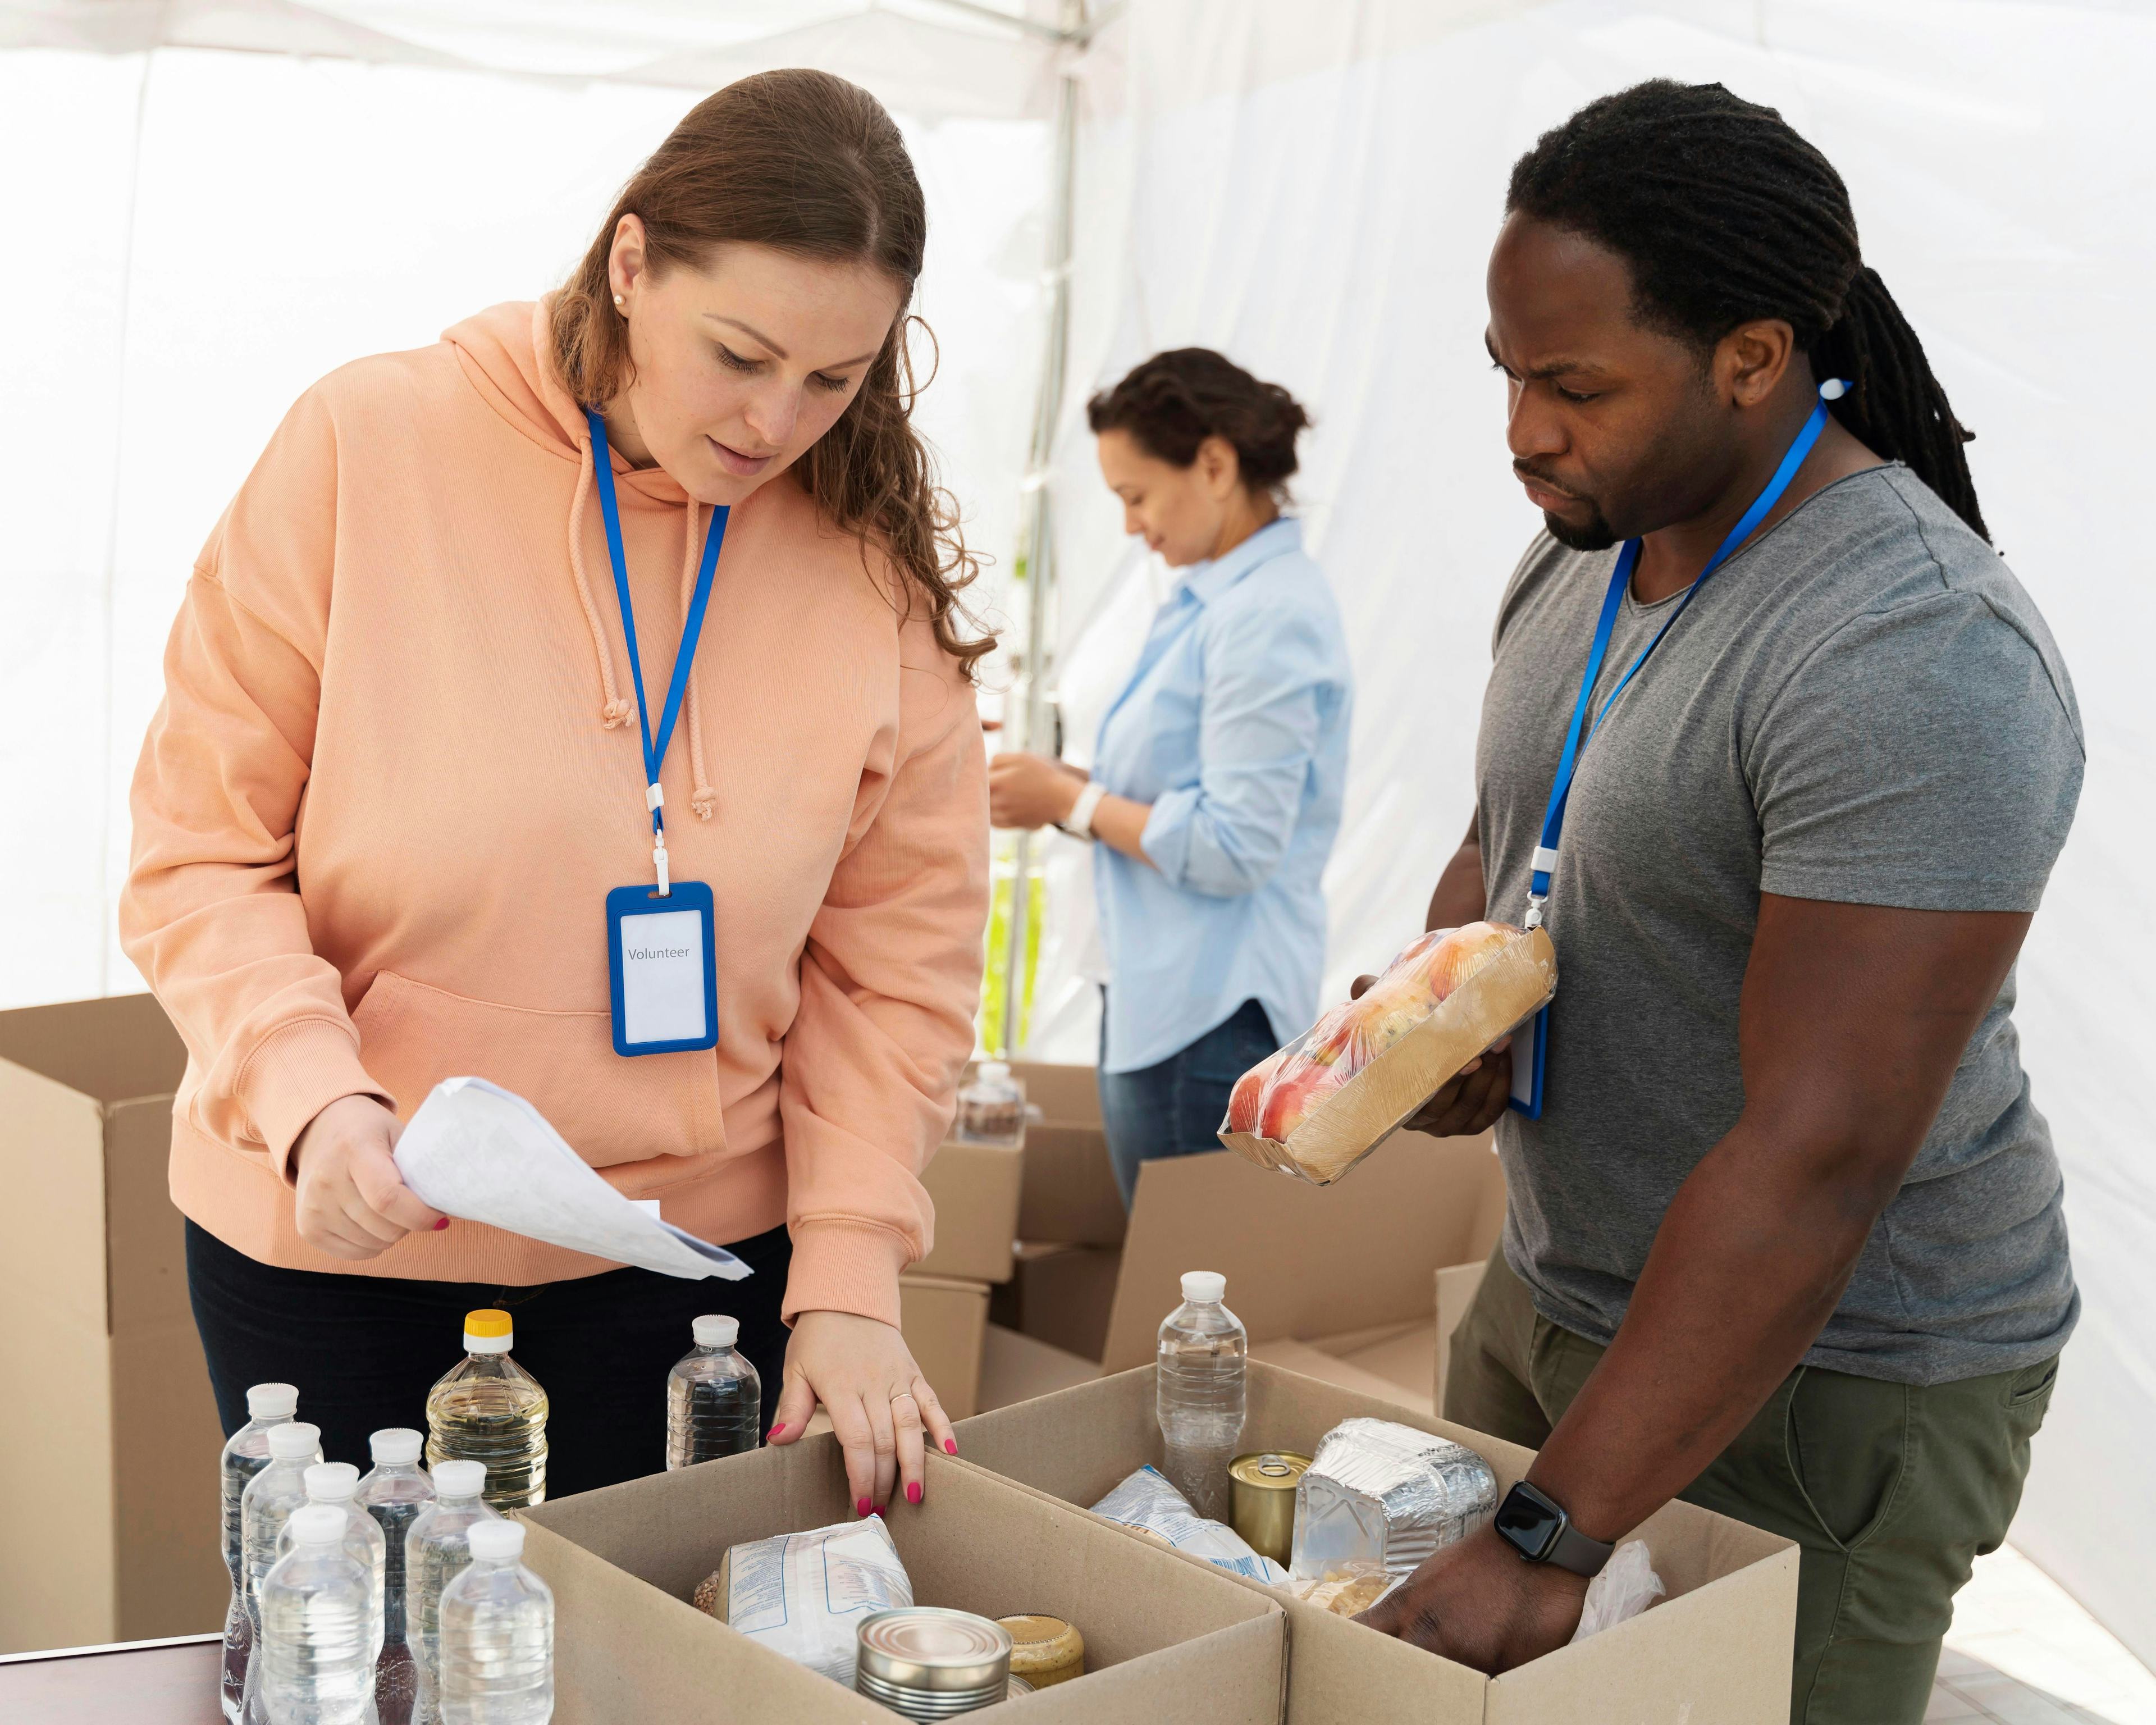
[[[1063,707],[1080,753],[1158,571],[1136,567],[1080,410],[1143,356],[1220,347],[1311,405],[1298,492],[1358,703],[1328,875],[1330,990],[1421,927],[1473,809],[1490,623],[1537,518],[1481,347],[1505,172],[1580,101],[1667,73],[1772,101],[1850,183],[1865,250],[1962,418],[2001,550],[2078,686],[2087,789],[2020,966],[2037,1104],[2085,1296],[2016,1544],[2156,1660],[2156,731],[2145,414],[2109,349],[2156,304],[2145,6],[1561,0],[1141,6],[1080,142],[1063,522]],[[1037,1052],[1093,1050],[1084,858],[1056,901]]]

